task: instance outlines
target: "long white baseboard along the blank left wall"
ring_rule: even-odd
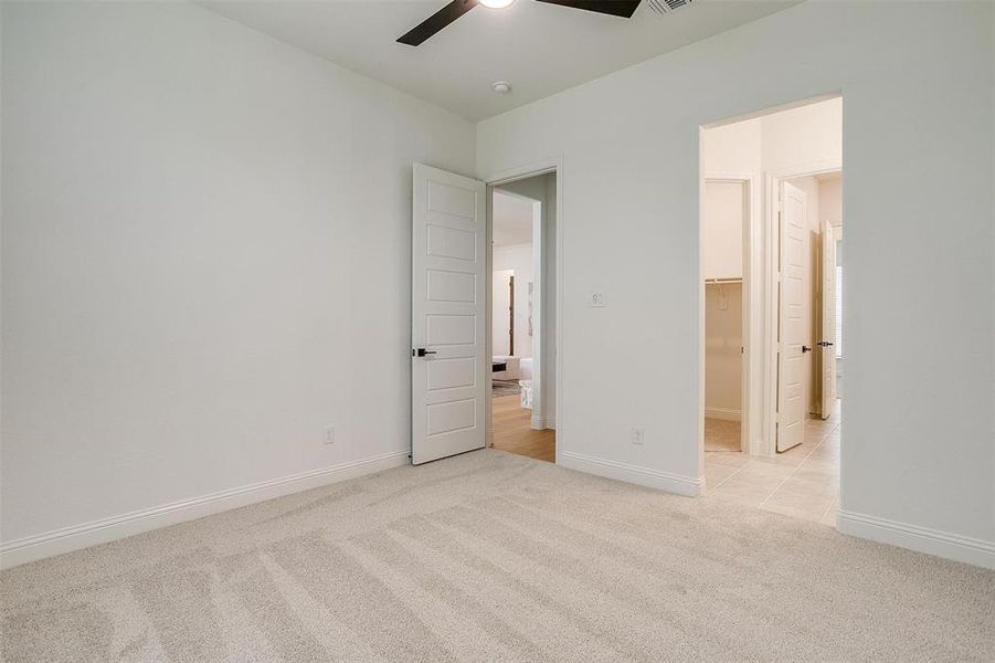
[[[4,541],[0,544],[0,568],[7,569],[35,559],[106,544],[142,532],[382,472],[406,463],[407,451],[395,451]]]

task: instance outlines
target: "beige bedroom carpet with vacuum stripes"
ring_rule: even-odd
[[[995,573],[497,451],[6,571],[4,661],[992,661]]]

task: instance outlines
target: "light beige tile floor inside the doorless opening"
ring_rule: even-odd
[[[839,505],[839,407],[809,419],[805,442],[774,457],[705,453],[706,498],[836,526]]]

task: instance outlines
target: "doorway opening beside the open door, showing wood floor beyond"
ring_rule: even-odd
[[[488,193],[490,445],[555,462],[557,173]]]

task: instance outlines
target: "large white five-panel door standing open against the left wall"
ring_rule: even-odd
[[[484,182],[414,165],[411,462],[485,444]]]

